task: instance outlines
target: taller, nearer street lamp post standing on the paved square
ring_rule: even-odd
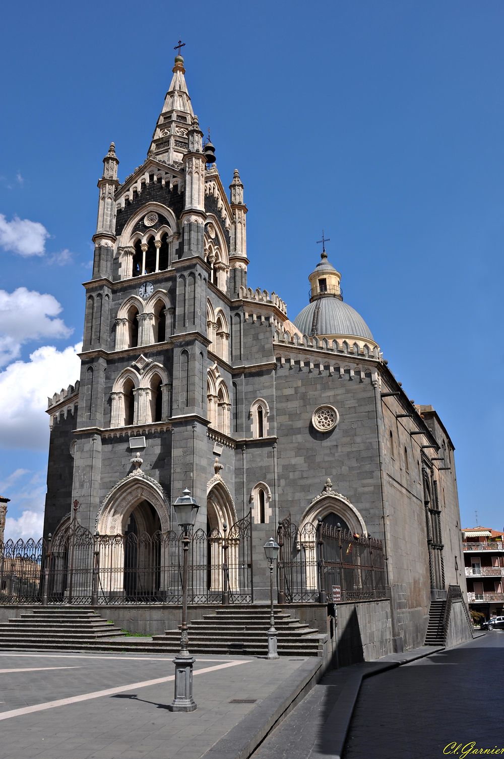
[[[191,497],[191,490],[187,487],[173,504],[179,527],[182,529],[182,624],[180,625],[180,651],[173,660],[175,664],[175,698],[169,705],[170,711],[188,712],[196,709],[193,698],[193,664],[194,657],[187,649],[187,581],[188,581],[188,554],[189,528],[194,525],[200,505]]]

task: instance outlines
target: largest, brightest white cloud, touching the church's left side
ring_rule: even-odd
[[[58,351],[45,345],[30,354],[30,361],[14,361],[0,372],[0,448],[46,449],[47,398],[79,378],[81,347],[79,343]]]

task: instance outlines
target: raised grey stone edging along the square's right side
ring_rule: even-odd
[[[266,735],[317,685],[322,663],[318,657],[303,662],[200,759],[248,759]]]

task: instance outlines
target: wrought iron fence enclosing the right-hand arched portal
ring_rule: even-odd
[[[278,529],[279,603],[384,598],[380,540],[319,522],[301,530],[288,517]]]

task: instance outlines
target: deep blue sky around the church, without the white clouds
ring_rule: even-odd
[[[17,2],[2,20],[11,534],[39,528],[45,398],[77,379],[102,157],[114,140],[121,179],[145,159],[179,36],[222,180],[244,181],[250,285],[293,319],[325,228],[345,300],[452,436],[462,524],[501,528],[502,2]]]

